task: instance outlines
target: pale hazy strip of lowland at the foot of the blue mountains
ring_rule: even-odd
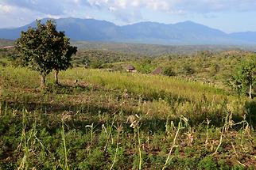
[[[196,51],[256,51],[253,45],[157,45],[143,43],[107,43],[73,41],[73,45],[81,50],[117,51],[138,55],[168,55],[168,54],[193,54]]]

